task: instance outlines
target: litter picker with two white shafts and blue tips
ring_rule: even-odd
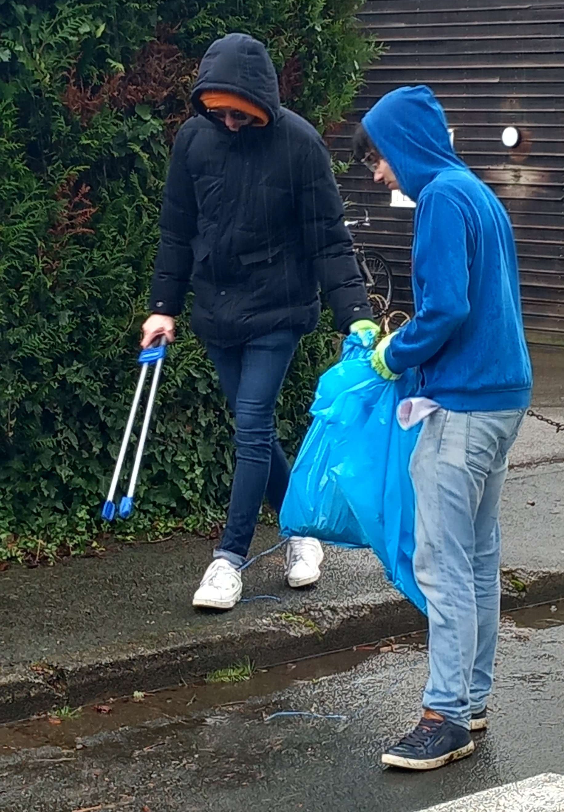
[[[143,425],[141,426],[139,441],[137,443],[135,461],[133,463],[133,469],[131,471],[131,479],[129,481],[129,487],[127,488],[127,494],[122,497],[122,500],[119,503],[118,515],[122,519],[127,519],[129,518],[129,516],[131,516],[131,513],[133,512],[133,496],[136,490],[137,477],[139,477],[141,458],[143,457],[145,440],[147,439],[147,433],[149,431],[149,423],[151,422],[151,413],[153,412],[155,395],[157,395],[158,381],[161,376],[161,369],[163,361],[165,360],[165,356],[166,356],[166,338],[164,335],[161,336],[161,339],[156,346],[149,347],[148,349],[142,350],[140,352],[140,356],[138,358],[138,361],[141,365],[139,381],[137,382],[135,395],[133,395],[133,403],[131,404],[131,411],[129,412],[129,417],[127,418],[127,425],[125,427],[125,433],[123,434],[122,446],[119,449],[118,460],[115,464],[114,477],[112,478],[110,490],[108,491],[108,496],[107,499],[105,500],[104,507],[101,510],[102,519],[105,519],[107,521],[114,520],[116,510],[114,496],[115,491],[118,487],[119,475],[120,473],[122,473],[123,460],[125,459],[127,444],[129,443],[129,438],[131,437],[131,431],[133,430],[133,424],[136,419],[137,410],[139,409],[141,395],[143,393],[144,382],[147,378],[149,366],[153,366],[154,367],[153,378],[151,379],[149,398],[147,400],[147,407],[145,408]]]

